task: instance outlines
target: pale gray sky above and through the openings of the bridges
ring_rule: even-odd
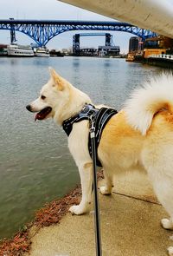
[[[110,21],[112,19],[106,16],[100,16],[90,11],[82,10],[67,3],[61,3],[56,0],[1,0],[0,18],[9,19],[60,19],[60,20],[93,20]],[[79,32],[79,31],[78,31]],[[82,31],[85,33],[85,31]],[[92,32],[92,31],[91,31]],[[104,31],[106,32],[106,31]],[[113,32],[113,42],[119,45],[121,53],[128,51],[129,38],[132,34],[125,32]],[[65,32],[55,36],[48,44],[49,49],[62,49],[72,46],[73,32]],[[18,43],[34,43],[29,36],[16,32]],[[0,30],[0,43],[10,43],[10,31]],[[105,36],[85,36],[80,37],[81,47],[98,47],[105,44]]]

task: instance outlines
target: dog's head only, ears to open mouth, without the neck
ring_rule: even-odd
[[[64,105],[69,98],[69,83],[58,75],[54,69],[49,68],[50,79],[40,92],[39,97],[26,108],[35,112],[35,121],[54,118],[55,112]]]

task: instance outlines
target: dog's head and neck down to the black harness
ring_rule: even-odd
[[[39,97],[26,108],[30,112],[36,112],[35,121],[52,117],[61,124],[77,114],[86,103],[92,102],[88,95],[76,89],[54,69],[49,68],[49,71],[49,81],[42,87]]]

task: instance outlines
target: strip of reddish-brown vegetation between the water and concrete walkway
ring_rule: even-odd
[[[81,189],[78,185],[71,192],[59,200],[53,200],[46,203],[41,209],[35,212],[35,218],[30,223],[22,226],[11,239],[0,240],[0,256],[20,256],[23,253],[29,253],[31,239],[30,229],[35,226],[35,234],[43,226],[51,226],[60,223],[61,218],[68,213],[69,207],[79,203]]]

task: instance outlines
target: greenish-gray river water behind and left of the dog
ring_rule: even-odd
[[[121,108],[131,89],[162,69],[90,57],[0,58],[0,238],[32,220],[44,203],[80,182],[67,137],[54,121],[34,121],[35,100],[54,67],[95,103]]]

